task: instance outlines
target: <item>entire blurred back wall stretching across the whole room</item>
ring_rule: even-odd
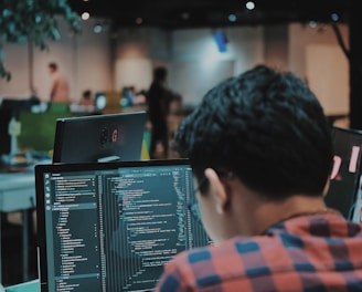
[[[123,86],[132,85],[136,90],[147,90],[152,67],[162,64],[169,69],[169,86],[190,105],[195,105],[221,80],[255,64],[266,63],[290,69],[306,79],[318,94],[322,94],[324,104],[334,103],[337,100],[328,96],[333,88],[340,88],[337,107],[342,104],[341,112],[345,112],[349,100],[345,60],[339,55],[340,60],[336,63],[339,74],[329,77],[328,83],[333,86],[322,93],[315,84],[320,84],[323,74],[311,74],[315,71],[311,65],[319,64],[319,56],[310,53],[311,46],[340,51],[329,25],[319,29],[298,23],[224,28],[222,30],[228,40],[227,51],[220,53],[212,38],[213,29],[164,31],[142,28],[124,29],[116,34],[95,34],[92,29],[96,21],[84,22],[81,35],[70,35],[67,28],[62,27],[62,40],[50,43],[49,52],[33,50],[33,83],[42,100],[47,100],[50,76],[46,64],[50,61],[58,62],[61,70],[68,76],[75,102],[85,88],[119,91]],[[347,42],[348,27],[340,28]],[[0,96],[28,96],[31,75],[28,45],[7,44],[6,49],[7,65],[13,77],[10,83],[0,81]],[[323,54],[318,52],[319,55]],[[321,70],[327,72],[333,64],[324,63],[326,67]],[[336,106],[327,108],[333,112]]]

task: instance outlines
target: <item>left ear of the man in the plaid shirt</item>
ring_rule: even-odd
[[[209,196],[211,196],[212,204],[217,213],[223,213],[227,206],[225,185],[213,168],[206,168],[204,175],[209,180]]]

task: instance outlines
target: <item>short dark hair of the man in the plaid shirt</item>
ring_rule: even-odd
[[[306,83],[258,65],[209,91],[181,123],[174,148],[199,179],[227,170],[270,199],[320,196],[332,163],[331,131]]]

